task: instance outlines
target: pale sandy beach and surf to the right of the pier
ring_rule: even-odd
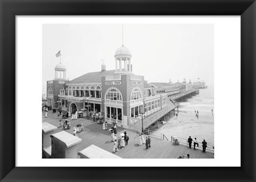
[[[198,119],[195,117],[195,110],[199,113]],[[157,132],[163,133],[167,138],[196,137],[198,143],[205,139],[209,145],[214,146],[214,88],[200,89],[198,95],[180,102],[178,118],[172,113],[171,117],[167,117],[166,125],[159,127]]]

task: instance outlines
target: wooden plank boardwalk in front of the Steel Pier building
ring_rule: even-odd
[[[48,118],[45,118],[44,112],[42,114],[43,122],[49,122],[54,126],[59,127],[59,118],[57,113],[48,112]],[[70,121],[70,118],[68,119]],[[78,144],[78,151],[83,150],[84,148],[90,145],[96,145],[100,148],[103,148],[106,151],[112,152],[114,147],[114,142],[111,142],[110,131],[103,130],[102,124],[98,124],[97,122],[93,122],[92,119],[87,120],[85,118],[79,118],[77,120],[70,121],[71,129],[66,130],[67,133],[73,135],[73,127],[75,127],[78,123],[84,124],[84,131],[79,134],[79,138],[82,139],[82,142]],[[111,126],[108,125],[108,129]],[[55,133],[63,131],[63,128],[58,128],[55,130]],[[129,158],[129,159],[141,159],[141,158],[165,158],[165,159],[176,159],[179,156],[190,154],[192,159],[198,158],[214,158],[214,155],[210,152],[203,153],[201,149],[191,149],[184,145],[174,146],[169,140],[161,140],[157,138],[151,137],[151,147],[146,149],[145,144],[142,146],[138,145],[138,134],[133,131],[127,131],[129,135],[129,143],[124,148],[119,149],[115,154],[120,156],[121,158]],[[117,127],[117,136],[124,132],[123,128]],[[146,140],[146,135],[144,136]],[[77,152],[78,152],[77,151]],[[77,155],[77,158],[79,156]]]

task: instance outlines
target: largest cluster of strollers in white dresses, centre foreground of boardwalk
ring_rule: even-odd
[[[113,152],[115,153],[118,151],[119,147],[120,147],[119,149],[122,149],[123,147],[125,147],[125,145],[128,145],[129,136],[126,133],[126,130],[124,130],[124,133],[120,134],[117,139],[115,130],[111,130],[111,131],[113,131],[111,133],[111,142],[114,142]]]

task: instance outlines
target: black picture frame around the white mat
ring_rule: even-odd
[[[255,181],[255,1],[0,0],[0,13],[1,181]],[[241,15],[241,167],[15,167],[15,15]]]

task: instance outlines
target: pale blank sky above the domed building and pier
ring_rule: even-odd
[[[115,52],[122,45],[122,24],[43,24],[43,80],[54,79],[61,50],[66,78],[115,69]],[[124,24],[124,46],[132,54],[135,75],[148,82],[191,81],[200,78],[213,86],[213,24]]]

